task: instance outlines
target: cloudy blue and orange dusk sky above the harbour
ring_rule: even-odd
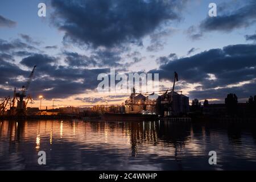
[[[209,3],[217,16],[210,17]],[[46,4],[46,17],[38,4]],[[158,73],[190,100],[246,102],[256,90],[256,2],[77,0],[0,2],[0,98],[26,84],[39,106],[121,104],[129,93],[99,93],[101,73]]]

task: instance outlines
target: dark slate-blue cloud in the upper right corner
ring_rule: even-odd
[[[202,31],[232,31],[236,28],[248,27],[256,22],[256,1],[251,0],[238,9],[209,17],[200,23]]]

